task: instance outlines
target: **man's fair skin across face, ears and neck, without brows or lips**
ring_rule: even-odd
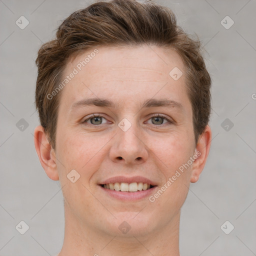
[[[59,255],[178,256],[180,208],[189,183],[198,180],[206,162],[210,127],[195,144],[185,68],[173,49],[147,45],[97,49],[99,53],[62,89],[55,150],[40,125],[34,131],[41,165],[62,187],[65,233]],[[90,52],[68,62],[65,74]],[[183,72],[176,81],[169,75],[174,67]],[[107,98],[118,108],[91,105],[71,110],[74,102],[92,97]],[[179,102],[182,109],[140,107],[146,99],[166,97]],[[103,118],[84,123],[93,113]],[[157,113],[172,123],[154,121],[150,114]],[[126,131],[118,127],[123,118],[131,124]],[[148,197],[115,199],[98,185],[113,176],[140,175],[160,188],[195,151],[200,155],[154,202]],[[74,183],[66,176],[72,169],[80,174]],[[131,227],[125,234],[118,229],[123,221]]]

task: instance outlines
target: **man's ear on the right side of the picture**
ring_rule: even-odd
[[[203,167],[206,163],[206,159],[210,149],[210,142],[211,142],[211,130],[210,126],[207,125],[203,131],[203,133],[199,136],[198,142],[195,148],[195,154],[197,158],[195,159],[192,164],[191,170],[191,178],[190,182],[194,183],[199,179],[199,176],[203,170]]]

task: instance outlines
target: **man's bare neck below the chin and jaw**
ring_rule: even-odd
[[[65,211],[64,241],[58,256],[179,256],[179,218],[180,211],[153,233],[124,237],[91,230]]]

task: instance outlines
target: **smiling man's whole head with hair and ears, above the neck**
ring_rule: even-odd
[[[209,151],[211,81],[200,42],[172,11],[151,1],[91,4],[63,21],[36,64],[35,147],[64,187],[68,216],[111,234],[125,220],[138,234],[178,215]],[[147,177],[154,193],[107,200],[102,185],[116,176]]]

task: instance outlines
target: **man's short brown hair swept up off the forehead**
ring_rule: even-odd
[[[73,12],[58,27],[56,39],[44,43],[38,50],[35,103],[40,123],[54,149],[61,93],[52,99],[47,95],[61,82],[70,58],[96,46],[142,44],[172,48],[182,58],[197,143],[209,121],[211,84],[200,41],[190,38],[177,25],[168,7],[150,0],[111,0],[98,1]]]

